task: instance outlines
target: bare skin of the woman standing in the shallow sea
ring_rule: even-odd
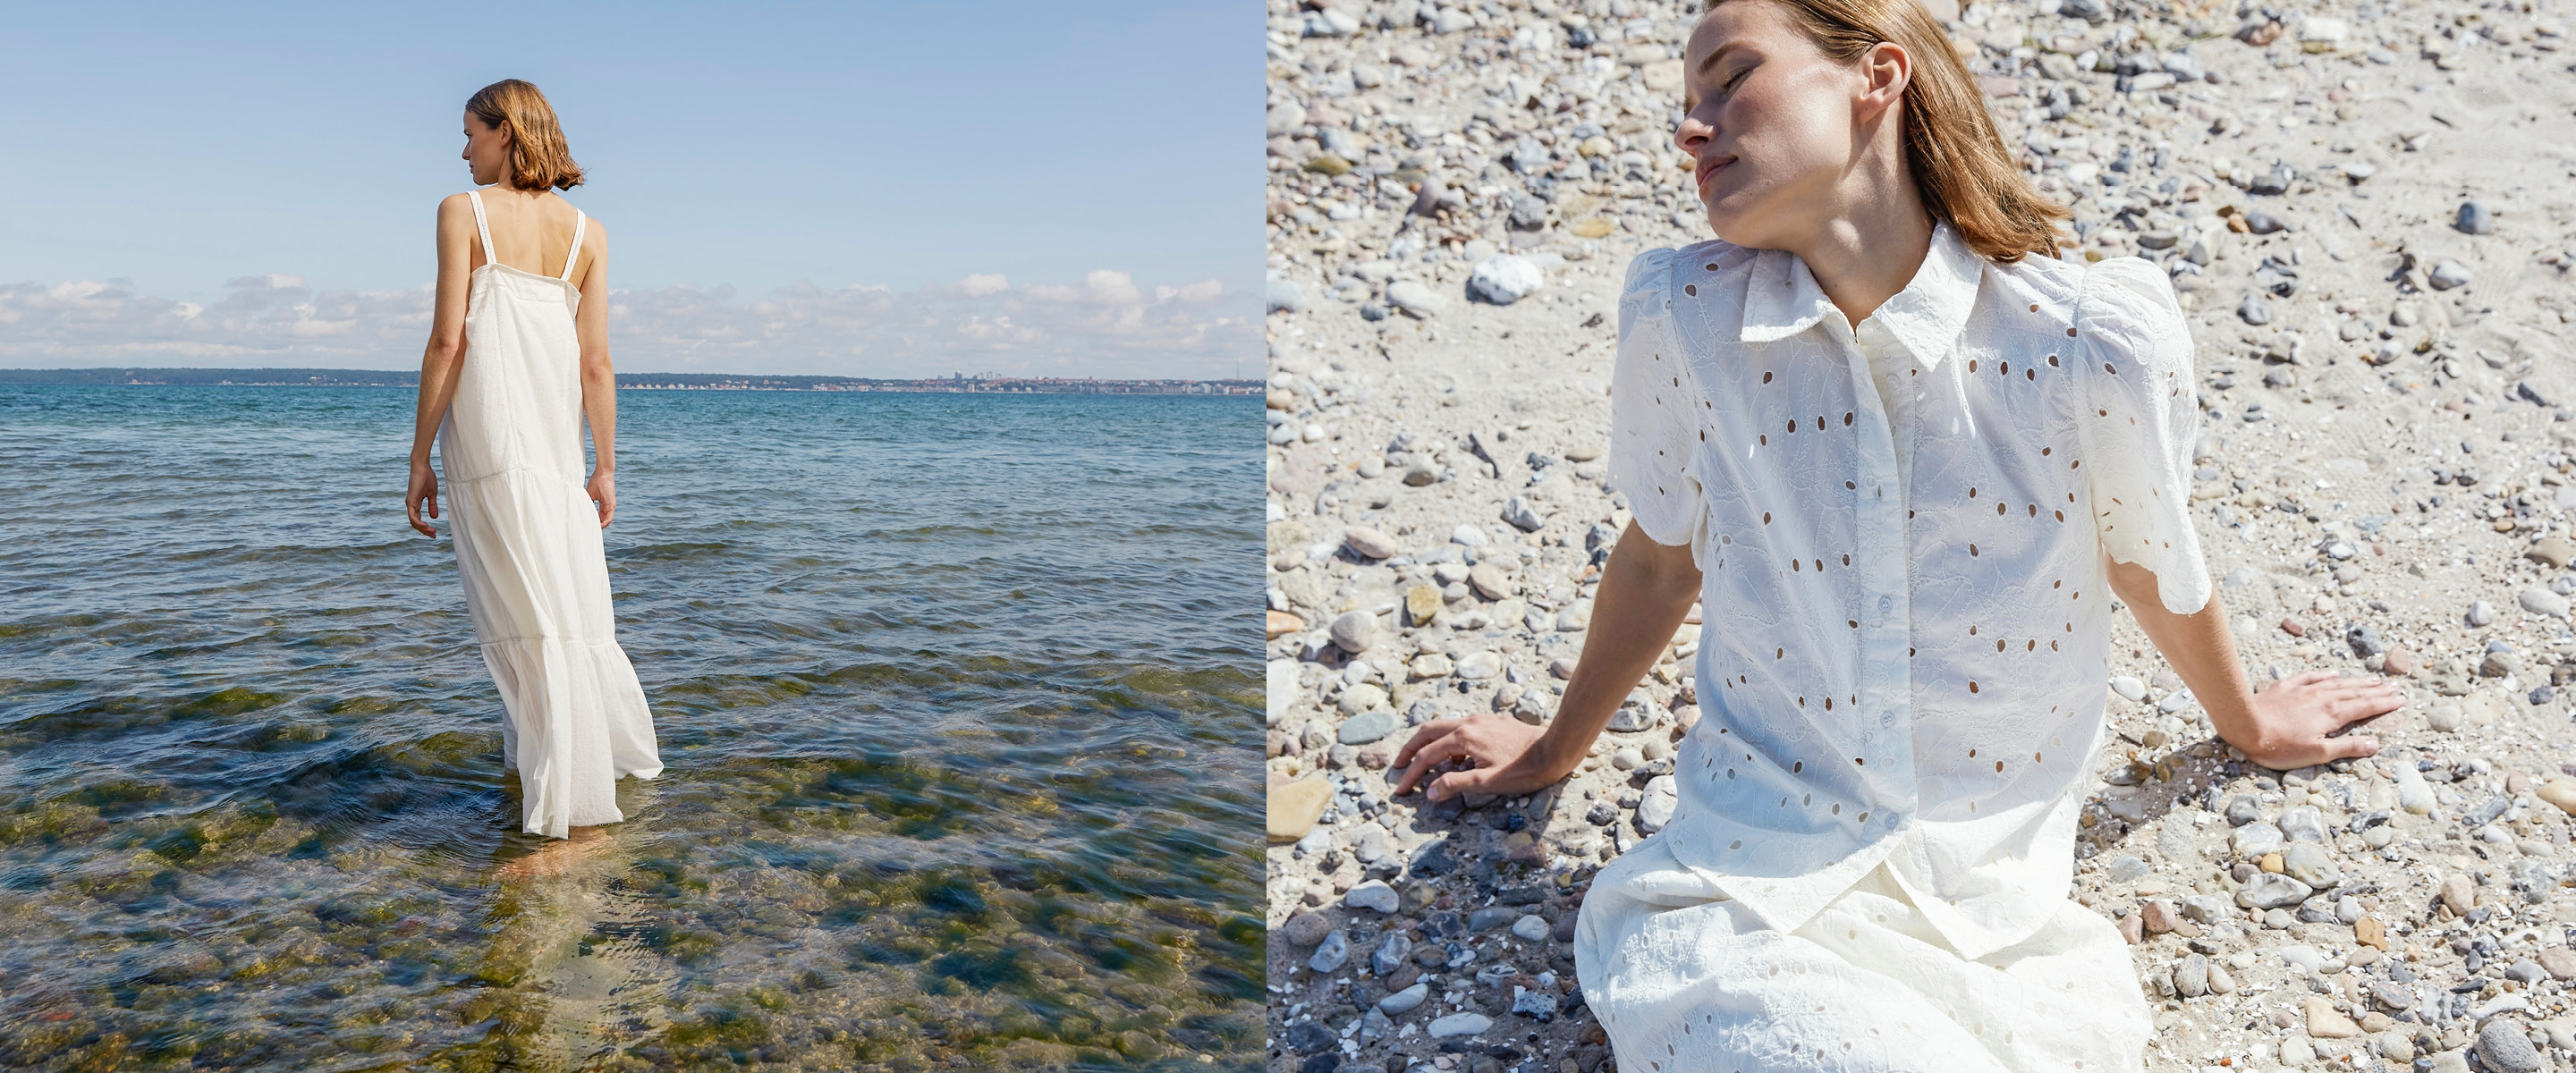
[[[526,268],[538,275],[556,275],[572,244],[572,203],[554,190],[518,190],[500,183],[510,170],[510,131],[495,129],[466,113],[464,162],[474,185],[484,185],[484,214],[492,229],[492,255],[507,268]],[[559,239],[556,239],[559,237]],[[438,471],[430,468],[430,443],[438,440],[438,422],[456,401],[456,373],[466,358],[466,293],[474,270],[482,268],[482,242],[474,232],[474,203],[464,193],[451,193],[438,203],[438,296],[430,309],[430,345],[420,355],[420,412],[412,422],[412,481],[404,491],[404,512],[422,535],[438,535],[428,517],[438,517]],[[582,414],[590,417],[590,448],[595,466],[587,491],[600,512],[600,527],[618,512],[616,443],[618,443],[618,378],[608,363],[608,229],[592,216],[582,229],[582,260],[572,270],[582,293],[572,314],[572,329],[582,350]],[[549,839],[536,852],[510,862],[510,877],[554,875],[572,859],[592,854],[603,831],[577,826],[567,839]]]

